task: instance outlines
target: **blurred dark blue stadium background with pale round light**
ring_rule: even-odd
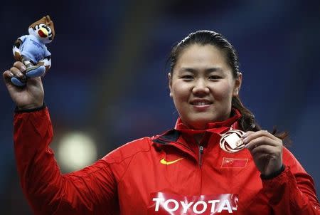
[[[191,31],[210,29],[238,50],[243,102],[265,129],[289,132],[289,149],[319,194],[320,1],[3,1],[2,71],[14,61],[16,38],[46,14],[56,37],[43,83],[63,172],[173,127],[166,58]],[[0,214],[31,214],[14,161],[15,106],[3,83],[0,96]]]

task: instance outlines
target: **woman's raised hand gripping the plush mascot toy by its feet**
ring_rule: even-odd
[[[44,98],[43,85],[40,77],[28,78],[27,83],[23,88],[17,87],[11,83],[12,77],[16,76],[22,78],[25,71],[26,66],[20,61],[16,61],[10,70],[4,71],[4,83],[19,110],[39,108],[43,105]]]

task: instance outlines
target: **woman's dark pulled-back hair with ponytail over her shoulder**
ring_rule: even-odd
[[[169,62],[170,62],[170,73],[172,75],[176,61],[178,61],[179,55],[181,52],[193,44],[198,44],[201,46],[212,45],[219,48],[223,53],[225,53],[225,59],[232,69],[233,78],[237,78],[239,70],[239,59],[238,54],[235,51],[235,48],[225,39],[220,33],[214,31],[196,31],[190,33],[186,38],[183,38],[182,41],[176,44],[172,48]],[[240,118],[240,127],[244,131],[258,131],[261,130],[260,125],[257,124],[255,116],[242,105],[239,96],[232,98],[232,107],[240,111],[242,117]],[[277,130],[273,130],[272,134],[275,134]],[[287,132],[283,132],[276,135],[280,139],[287,137]]]

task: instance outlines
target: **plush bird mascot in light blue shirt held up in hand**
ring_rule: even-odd
[[[31,24],[28,35],[19,37],[14,43],[14,58],[26,65],[25,77],[12,77],[11,83],[23,87],[28,78],[44,76],[51,66],[51,53],[46,43],[53,41],[55,29],[49,16]]]

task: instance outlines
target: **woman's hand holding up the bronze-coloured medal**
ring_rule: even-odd
[[[242,141],[250,151],[257,169],[268,176],[282,167],[282,140],[266,130],[248,131]]]

